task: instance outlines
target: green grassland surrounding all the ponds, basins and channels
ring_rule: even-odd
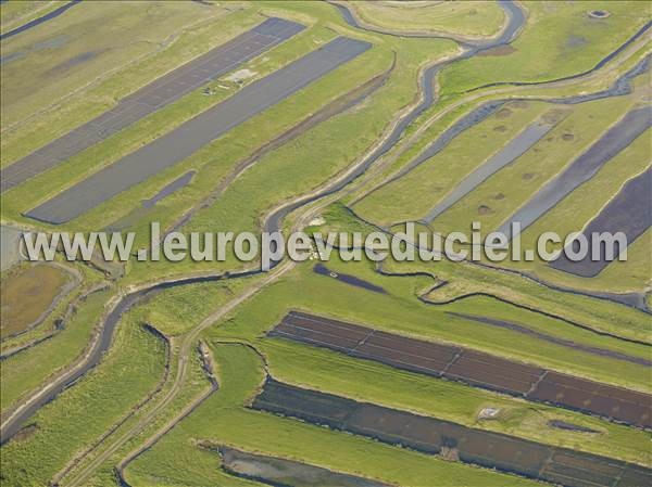
[[[211,95],[202,89],[190,92],[3,193],[2,223],[90,232],[122,222],[124,231],[136,232],[135,248],[148,244],[150,222],[168,228],[184,215],[191,215],[180,226],[184,233],[258,233],[274,208],[323,190],[378,146],[418,104],[424,71],[461,54],[462,44],[454,39],[487,40],[496,37],[505,22],[504,11],[496,2],[347,3],[365,28],[347,24],[329,2],[85,1],[54,20],[3,39],[2,168],[269,16],[299,22],[306,28],[238,67],[253,73],[243,85],[275,73],[338,36],[366,40],[373,47],[175,166],[66,225],[48,226],[25,216],[40,203],[234,95],[242,85],[228,81],[231,73],[227,73],[208,86]],[[62,4],[3,2],[2,33]],[[512,43],[451,62],[434,79],[436,101],[414,117],[381,157],[343,190],[294,210],[281,222],[283,229],[309,233],[379,228],[402,231],[405,221],[422,220],[527,126],[553,120],[550,132],[522,156],[429,226],[417,225],[418,230],[448,234],[468,231],[473,221],[479,221],[487,233],[628,111],[650,103],[650,72],[635,79],[635,90],[627,95],[576,105],[548,102],[610,88],[652,52],[649,36],[642,36],[594,73],[530,85],[591,69],[650,21],[649,9],[626,1],[518,4],[527,20]],[[593,10],[607,11],[609,15],[591,17]],[[364,100],[336,110],[342,97],[353,98],[361,87],[380,76],[387,78]],[[502,85],[511,81],[525,85]],[[492,100],[507,101],[439,154],[386,183],[457,118]],[[324,110],[331,114],[306,128],[305,121]],[[293,137],[265,151],[247,170],[234,172],[240,163],[287,133]],[[645,131],[528,228],[523,246],[531,247],[544,231],[581,229],[626,181],[649,167],[651,133]],[[196,174],[187,185],[151,208],[142,207],[143,200],[189,170]],[[216,197],[210,197],[224,181],[229,183]],[[650,469],[650,431],[272,338],[266,333],[287,312],[300,310],[652,394],[650,367],[641,363],[651,359],[650,315],[588,295],[636,292],[650,306],[651,239],[648,229],[629,246],[628,261],[610,265],[590,279],[556,271],[540,260],[504,261],[497,268],[486,266],[486,261],[400,262],[389,258],[380,269],[368,259],[344,261],[334,252],[324,262],[330,271],[354,275],[385,293],[318,274],[313,259],[293,266],[286,261],[269,273],[228,279],[236,271],[258,266],[258,261],[237,260],[233,246],[224,262],[197,262],[189,257],[152,262],[133,256],[124,264],[98,259],[83,264],[64,261],[59,255],[57,266],[70,268],[79,283],[51,306],[33,330],[3,339],[3,355],[34,345],[0,362],[2,421],[84,360],[116,299],[158,282],[167,281],[170,286],[149,294],[122,316],[101,363],[29,418],[27,427],[1,447],[0,486],[111,487],[118,485],[116,469],[122,466],[133,487],[263,485],[225,473],[214,449],[217,446],[304,462],[391,486],[537,485],[496,470],[255,411],[249,405],[267,376]],[[52,304],[55,290],[61,290],[63,274],[50,275],[59,267],[48,267],[48,275],[29,271],[40,268],[46,266],[21,264],[2,272],[3,338],[28,326]],[[206,274],[224,274],[225,279],[170,283]],[[509,322],[521,329],[473,318]],[[212,366],[200,357],[200,343],[209,347],[205,360]],[[206,367],[213,369],[218,387],[199,402],[210,389]],[[479,411],[488,407],[498,408],[498,416],[478,419]],[[555,428],[550,426],[551,420],[595,433]]]

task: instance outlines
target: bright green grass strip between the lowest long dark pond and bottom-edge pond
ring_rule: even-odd
[[[224,482],[217,470],[217,457],[200,450],[197,440],[237,446],[404,486],[429,485],[432,478],[442,485],[534,485],[517,477],[243,409],[242,405],[251,400],[264,379],[260,357],[237,344],[217,344],[213,350],[221,389],[127,469],[127,479],[134,486],[152,483],[201,486]]]

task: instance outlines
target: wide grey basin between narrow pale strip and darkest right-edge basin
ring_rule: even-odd
[[[635,139],[652,126],[652,106],[635,108],[609,129],[593,145],[577,157],[554,179],[542,187],[524,206],[506,219],[497,230],[512,235],[512,222],[528,228],[552,209],[576,188],[590,180],[609,161],[625,150]],[[514,238],[515,235],[512,235]]]

